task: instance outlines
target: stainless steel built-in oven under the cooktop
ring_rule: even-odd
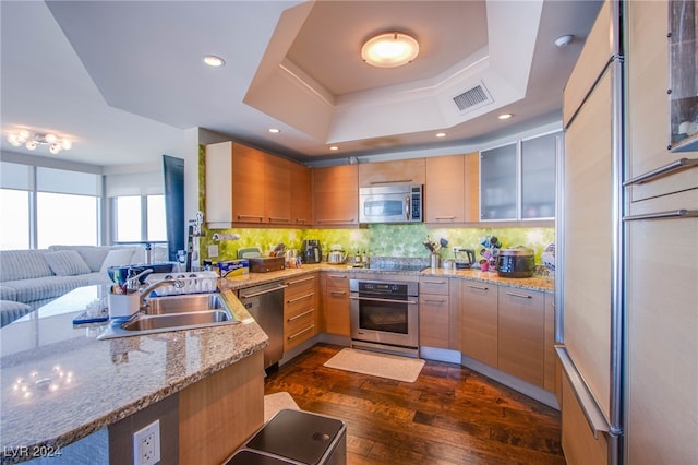
[[[418,282],[350,279],[351,345],[417,357]]]

